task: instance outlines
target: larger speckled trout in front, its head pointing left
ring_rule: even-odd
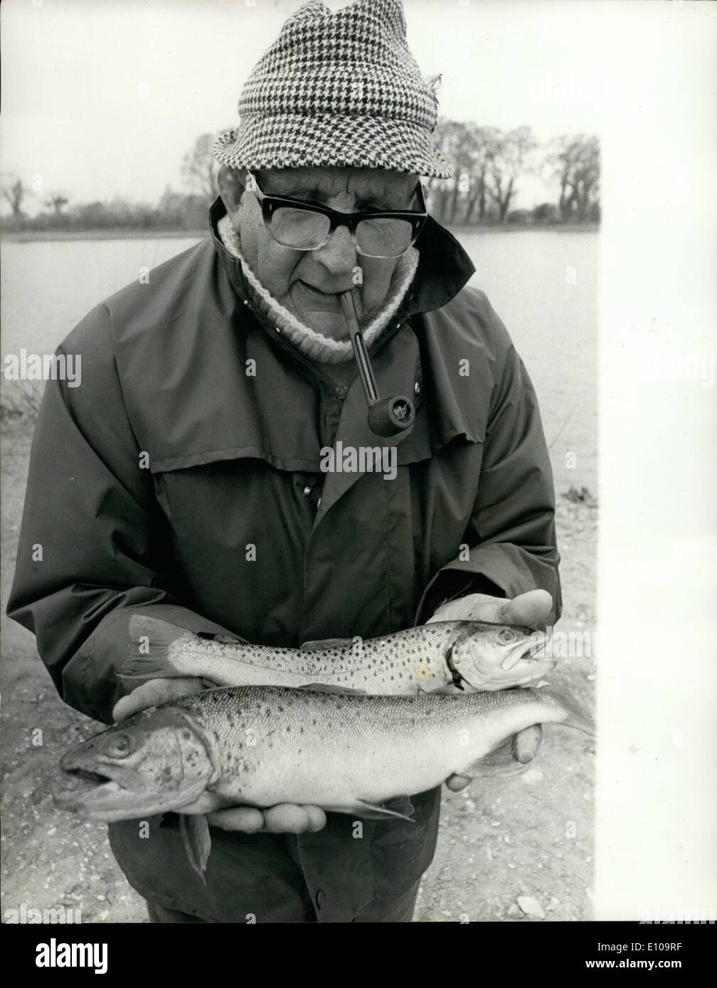
[[[414,697],[220,688],[142,710],[71,749],[60,768],[90,784],[58,803],[106,822],[182,814],[204,878],[208,812],[296,803],[409,819],[411,795],[504,767],[512,735],[551,722],[593,729],[582,705],[549,688]],[[408,812],[392,808],[397,798]]]

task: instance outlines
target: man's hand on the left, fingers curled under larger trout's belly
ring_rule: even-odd
[[[161,706],[178,697],[203,693],[207,689],[204,680],[196,677],[149,680],[129,696],[118,700],[112,715],[115,720],[125,720],[147,706]],[[266,810],[253,806],[230,806],[209,812],[207,819],[221,830],[240,830],[245,834],[303,834],[307,830],[323,830],[326,826],[326,814],[319,806],[295,806],[291,803],[280,803]]]

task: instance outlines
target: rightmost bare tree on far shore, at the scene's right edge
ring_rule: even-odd
[[[557,137],[546,166],[560,187],[558,208],[564,220],[589,219],[600,203],[600,145],[593,135]]]

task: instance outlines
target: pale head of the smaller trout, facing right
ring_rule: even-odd
[[[546,654],[547,637],[518,624],[471,621],[451,646],[449,665],[475,690],[526,686],[556,666]]]

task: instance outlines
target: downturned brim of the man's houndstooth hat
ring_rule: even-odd
[[[385,168],[448,179],[450,164],[424,127],[376,117],[243,117],[214,146],[229,168]]]

